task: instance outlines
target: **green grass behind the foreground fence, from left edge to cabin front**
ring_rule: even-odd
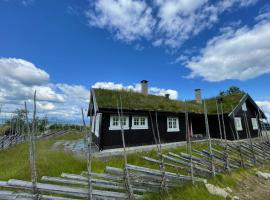
[[[36,145],[36,164],[38,178],[42,176],[59,176],[62,172],[81,173],[86,170],[86,160],[84,157],[72,155],[63,149],[53,149],[52,146],[56,141],[60,140],[77,140],[83,138],[82,133],[66,134],[56,136],[54,138],[38,141]],[[200,150],[205,148],[203,144],[194,144],[194,148]],[[164,148],[163,153],[183,152],[186,147],[178,147],[174,149]],[[142,159],[142,156],[158,158],[156,150],[128,154],[128,162],[133,165],[143,167],[151,167],[158,169],[159,166]],[[95,172],[104,172],[106,166],[123,167],[123,157],[115,156],[110,158],[97,159],[93,158],[92,169]],[[30,180],[29,170],[29,147],[28,144],[19,144],[8,150],[0,151],[0,180],[8,180],[11,178]],[[168,168],[169,171],[175,172],[174,169]]]

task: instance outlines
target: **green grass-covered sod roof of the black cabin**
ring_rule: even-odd
[[[164,112],[185,112],[185,102],[171,100],[163,96],[143,95],[138,92],[127,90],[94,89],[97,105],[99,108],[117,108],[117,101],[122,99],[123,109],[147,110]],[[225,113],[230,113],[232,107],[237,106],[244,93],[222,96]],[[209,113],[216,113],[216,97],[206,99]],[[193,101],[186,102],[187,110],[194,113],[203,113],[202,104]]]

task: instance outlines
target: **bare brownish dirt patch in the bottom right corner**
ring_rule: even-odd
[[[270,180],[248,176],[238,183],[234,194],[240,199],[270,200]]]

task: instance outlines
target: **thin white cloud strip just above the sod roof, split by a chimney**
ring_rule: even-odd
[[[121,83],[114,83],[114,82],[97,82],[93,86],[93,88],[103,88],[103,89],[111,89],[111,90],[132,90],[135,92],[141,91],[140,84],[133,84],[124,86]],[[163,89],[158,87],[149,87],[149,93],[158,96],[165,96],[165,94],[170,94],[170,99],[177,99],[178,92],[172,89]]]

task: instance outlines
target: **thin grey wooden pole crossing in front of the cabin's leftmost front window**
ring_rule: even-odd
[[[130,177],[129,177],[129,172],[127,168],[127,153],[126,153],[126,142],[125,142],[125,133],[124,133],[124,128],[123,128],[123,106],[122,106],[122,98],[120,96],[120,108],[118,105],[117,101],[117,112],[118,112],[118,118],[120,122],[120,127],[121,127],[121,136],[122,136],[122,143],[123,143],[123,156],[124,156],[124,181],[125,181],[125,186],[128,192],[128,199],[134,199],[134,193],[133,189],[131,187],[131,182],[130,182]]]

